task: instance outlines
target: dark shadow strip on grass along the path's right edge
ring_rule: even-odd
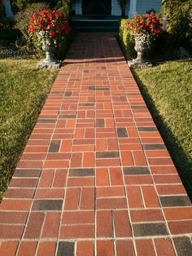
[[[146,101],[146,105],[149,108],[151,115],[155,121],[155,124],[164,139],[164,143],[168,148],[172,160],[177,167],[178,174],[180,175],[181,181],[185,186],[188,196],[190,196],[190,201],[192,201],[192,160],[187,157],[184,150],[178,145],[175,135],[166,126],[164,118],[160,116],[159,111],[155,108],[155,103],[151,96],[149,95],[146,86],[142,83],[137,74],[132,70],[133,77],[137,81],[137,85],[141,90],[142,96]]]

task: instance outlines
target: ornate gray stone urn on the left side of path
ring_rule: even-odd
[[[55,43],[47,38],[42,38],[41,43],[42,50],[46,52],[46,58],[37,64],[37,68],[60,68],[61,61],[56,60],[53,56],[56,48]]]

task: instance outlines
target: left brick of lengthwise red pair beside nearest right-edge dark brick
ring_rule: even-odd
[[[127,187],[129,208],[143,208],[142,193],[139,187]]]

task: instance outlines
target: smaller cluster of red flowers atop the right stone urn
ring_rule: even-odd
[[[162,24],[154,13],[134,15],[132,22],[129,23],[129,29],[134,34],[148,34],[157,36],[162,32]]]

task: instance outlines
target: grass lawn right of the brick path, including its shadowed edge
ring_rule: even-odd
[[[192,61],[170,61],[133,74],[192,198]]]

